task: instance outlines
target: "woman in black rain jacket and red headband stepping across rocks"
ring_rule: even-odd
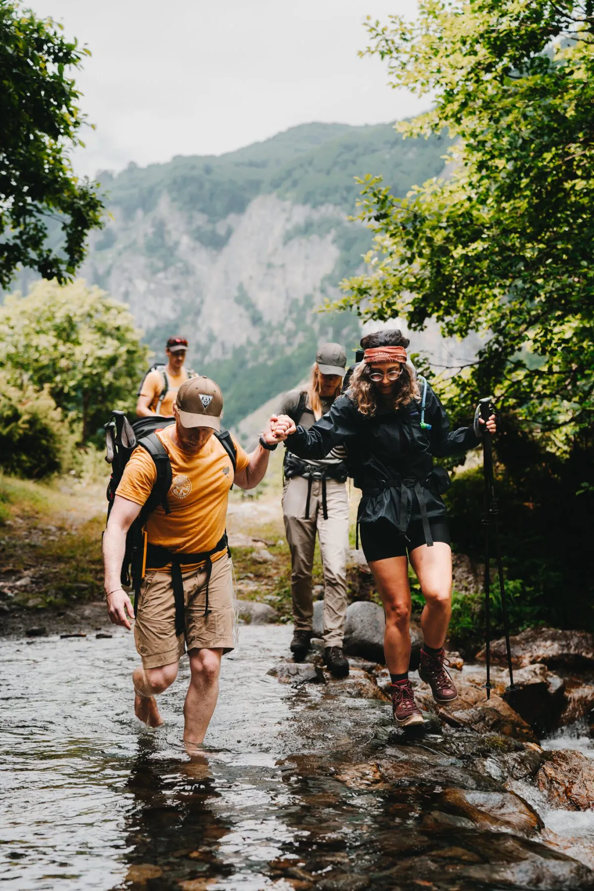
[[[433,467],[433,459],[480,445],[472,426],[450,429],[443,405],[407,364],[408,345],[397,330],[367,335],[361,341],[363,361],[328,414],[309,430],[284,415],[278,421],[287,448],[300,458],[320,459],[334,446],[346,446],[349,475],[362,490],[362,549],[386,612],[384,651],[400,725],[423,722],[408,676],[408,560],[426,601],[419,676],[437,702],[458,696],[443,653],[452,612],[452,551],[441,495],[450,479],[446,470]],[[494,416],[487,428],[495,432]]]

